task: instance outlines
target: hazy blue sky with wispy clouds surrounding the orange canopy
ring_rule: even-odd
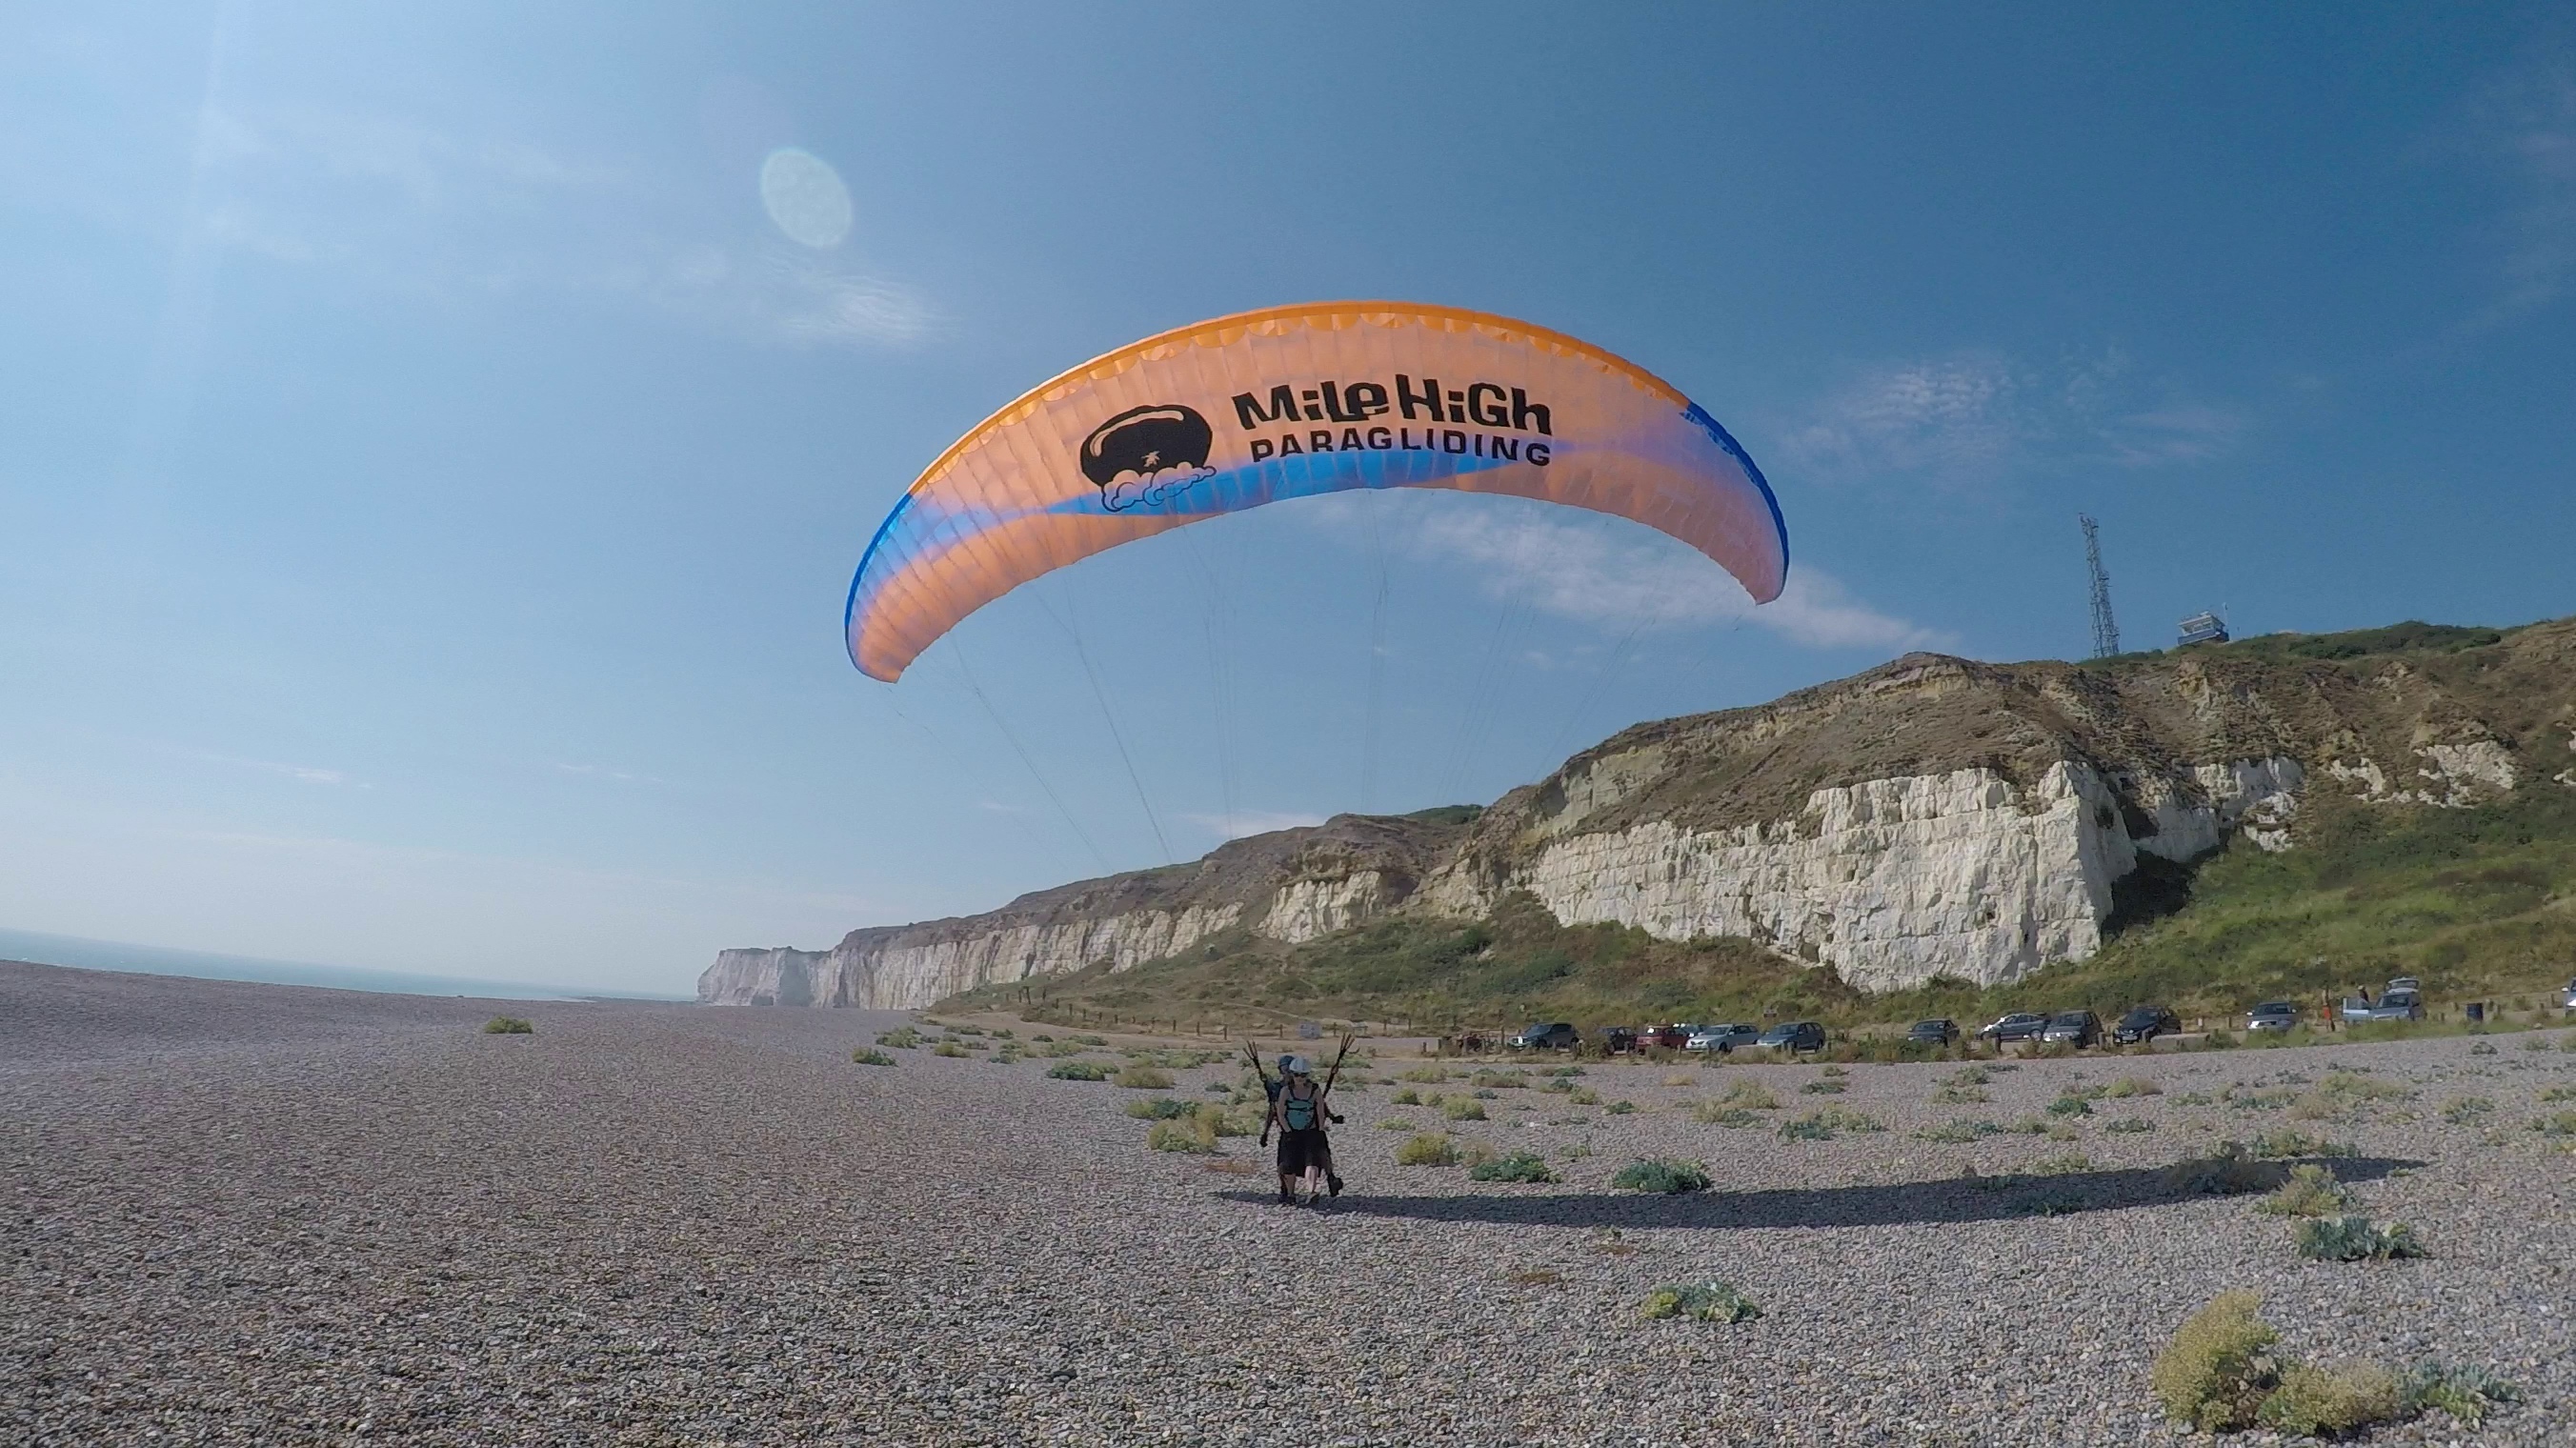
[[[773,216],[783,147],[845,229]],[[21,5],[0,925],[685,989],[1914,647],[2079,654],[2076,510],[2133,644],[2561,616],[2571,294],[2545,5]],[[848,665],[868,533],[992,407],[1337,296],[1672,379],[1790,595],[1342,497]]]

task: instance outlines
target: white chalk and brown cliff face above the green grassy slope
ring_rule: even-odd
[[[1224,930],[1311,940],[1388,912],[1747,935],[1865,989],[2084,958],[2141,855],[2295,848],[2300,801],[2470,806],[2576,788],[2576,621],[2450,652],[2249,642],[2110,665],[1909,654],[1759,709],[1638,724],[1471,824],[1337,817],[1195,866],[724,951],[698,997],[917,1007],[1131,969]]]

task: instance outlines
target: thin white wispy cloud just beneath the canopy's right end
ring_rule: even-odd
[[[1618,523],[1502,510],[1425,513],[1406,533],[1422,554],[1466,562],[1497,598],[1600,629],[1754,624],[1816,649],[1945,647],[1950,636],[1880,613],[1814,564],[1793,564],[1772,603],[1698,551]]]

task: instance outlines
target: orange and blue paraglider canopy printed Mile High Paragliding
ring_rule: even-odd
[[[1754,603],[1788,582],[1762,469],[1695,402],[1486,312],[1316,301],[1118,348],[958,438],[850,580],[850,662],[894,680],[961,618],[1118,544],[1360,487],[1507,492],[1633,518]]]

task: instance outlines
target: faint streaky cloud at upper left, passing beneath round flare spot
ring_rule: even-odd
[[[198,234],[278,265],[438,299],[554,291],[775,345],[902,345],[917,291],[845,250],[706,216],[639,165],[296,106],[211,111]]]

